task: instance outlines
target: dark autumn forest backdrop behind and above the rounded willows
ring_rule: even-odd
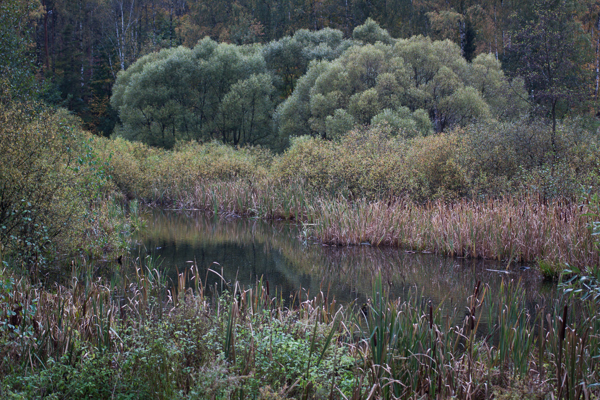
[[[275,69],[281,68],[283,83],[276,82],[275,86],[287,97],[310,59],[331,61],[350,43],[343,38],[354,34],[356,40],[371,44],[419,34],[449,39],[457,43],[467,61],[491,53],[509,66],[509,53],[519,41],[521,28],[535,25],[541,3],[7,0],[1,13],[5,23],[2,44],[10,50],[4,57],[12,57],[16,66],[11,73],[26,77],[15,81],[17,86],[27,87],[34,77],[43,80],[45,100],[68,107],[82,118],[87,129],[108,136],[118,120],[109,105],[118,72],[161,49],[180,44],[193,47],[205,37],[238,45],[265,43],[274,49]],[[595,73],[600,56],[593,49],[600,38],[596,27],[600,8],[590,1],[543,4],[551,12],[566,14],[570,23],[566,34],[572,28],[572,32],[589,37],[587,47],[580,50],[589,53],[592,62],[582,67]],[[293,38],[294,32],[314,38],[319,31],[332,40],[317,40],[319,43],[313,45]],[[342,46],[338,46],[337,37]],[[307,56],[313,51],[318,54]],[[597,95],[599,79],[595,73],[590,99]]]

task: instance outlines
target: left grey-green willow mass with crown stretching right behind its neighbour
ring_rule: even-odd
[[[220,139],[232,145],[283,149],[272,113],[276,86],[291,92],[313,59],[335,58],[348,46],[340,31],[298,31],[267,46],[217,44],[151,53],[119,73],[111,104],[121,136],[172,148],[178,140]]]

